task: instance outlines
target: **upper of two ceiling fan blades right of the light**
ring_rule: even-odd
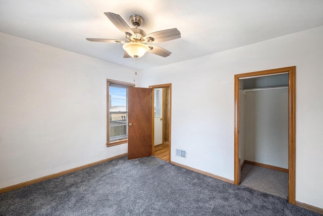
[[[149,41],[149,37],[152,39],[152,41]],[[181,32],[177,30],[177,28],[171,28],[167,30],[152,32],[146,35],[143,39],[147,39],[147,42],[164,42],[177,38],[181,38]]]

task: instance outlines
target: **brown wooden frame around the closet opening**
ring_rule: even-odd
[[[240,184],[240,159],[239,159],[239,79],[246,77],[266,76],[279,73],[288,73],[288,202],[296,203],[295,197],[295,163],[296,163],[296,66],[263,70],[234,75],[234,184]]]

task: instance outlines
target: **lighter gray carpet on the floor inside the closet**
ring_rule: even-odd
[[[241,170],[241,185],[288,198],[288,173],[245,164]]]

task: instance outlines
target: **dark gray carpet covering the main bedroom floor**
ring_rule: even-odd
[[[123,157],[0,194],[0,215],[319,214],[155,157]]]

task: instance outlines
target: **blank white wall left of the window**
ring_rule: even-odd
[[[106,79],[133,70],[0,33],[0,188],[127,152],[106,148]]]

